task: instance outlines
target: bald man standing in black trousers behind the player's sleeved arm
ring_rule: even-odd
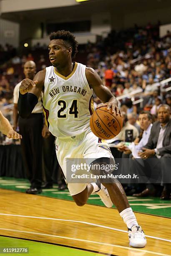
[[[24,64],[25,78],[33,80],[36,73],[34,61],[27,61]],[[22,82],[22,81],[21,81]],[[18,97],[20,83],[14,88],[14,109],[13,121],[14,130],[19,126],[23,137],[21,141],[22,156],[26,167],[27,177],[30,181],[30,188],[26,190],[28,194],[39,194],[42,192],[42,128],[43,128],[43,105],[41,97],[33,109],[30,116],[26,119],[18,118]]]

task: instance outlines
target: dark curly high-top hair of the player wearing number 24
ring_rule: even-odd
[[[54,39],[63,39],[65,41],[66,47],[72,48],[72,58],[75,58],[75,55],[78,52],[78,42],[75,40],[75,36],[72,33],[70,33],[70,31],[58,30],[56,32],[51,33],[49,38],[50,41]]]

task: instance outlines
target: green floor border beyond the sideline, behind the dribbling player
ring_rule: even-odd
[[[30,184],[27,179],[15,179],[9,177],[0,178],[0,188],[11,189],[19,192],[25,192]],[[43,189],[40,196],[53,197],[62,200],[73,201],[68,190],[58,191],[58,186],[54,185],[53,189]],[[135,212],[141,212],[151,215],[171,218],[171,200],[162,201],[159,197],[128,197],[129,203]],[[91,195],[88,204],[104,206],[98,195]],[[115,208],[113,206],[113,208]]]

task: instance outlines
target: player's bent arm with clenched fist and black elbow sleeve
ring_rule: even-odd
[[[18,112],[22,118],[27,118],[38,103],[40,93],[44,88],[46,71],[38,72],[34,77],[34,82],[28,78],[24,79],[20,85]]]

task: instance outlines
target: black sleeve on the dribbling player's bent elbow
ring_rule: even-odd
[[[18,113],[22,118],[27,118],[38,103],[38,97],[33,93],[20,94],[18,98]]]

